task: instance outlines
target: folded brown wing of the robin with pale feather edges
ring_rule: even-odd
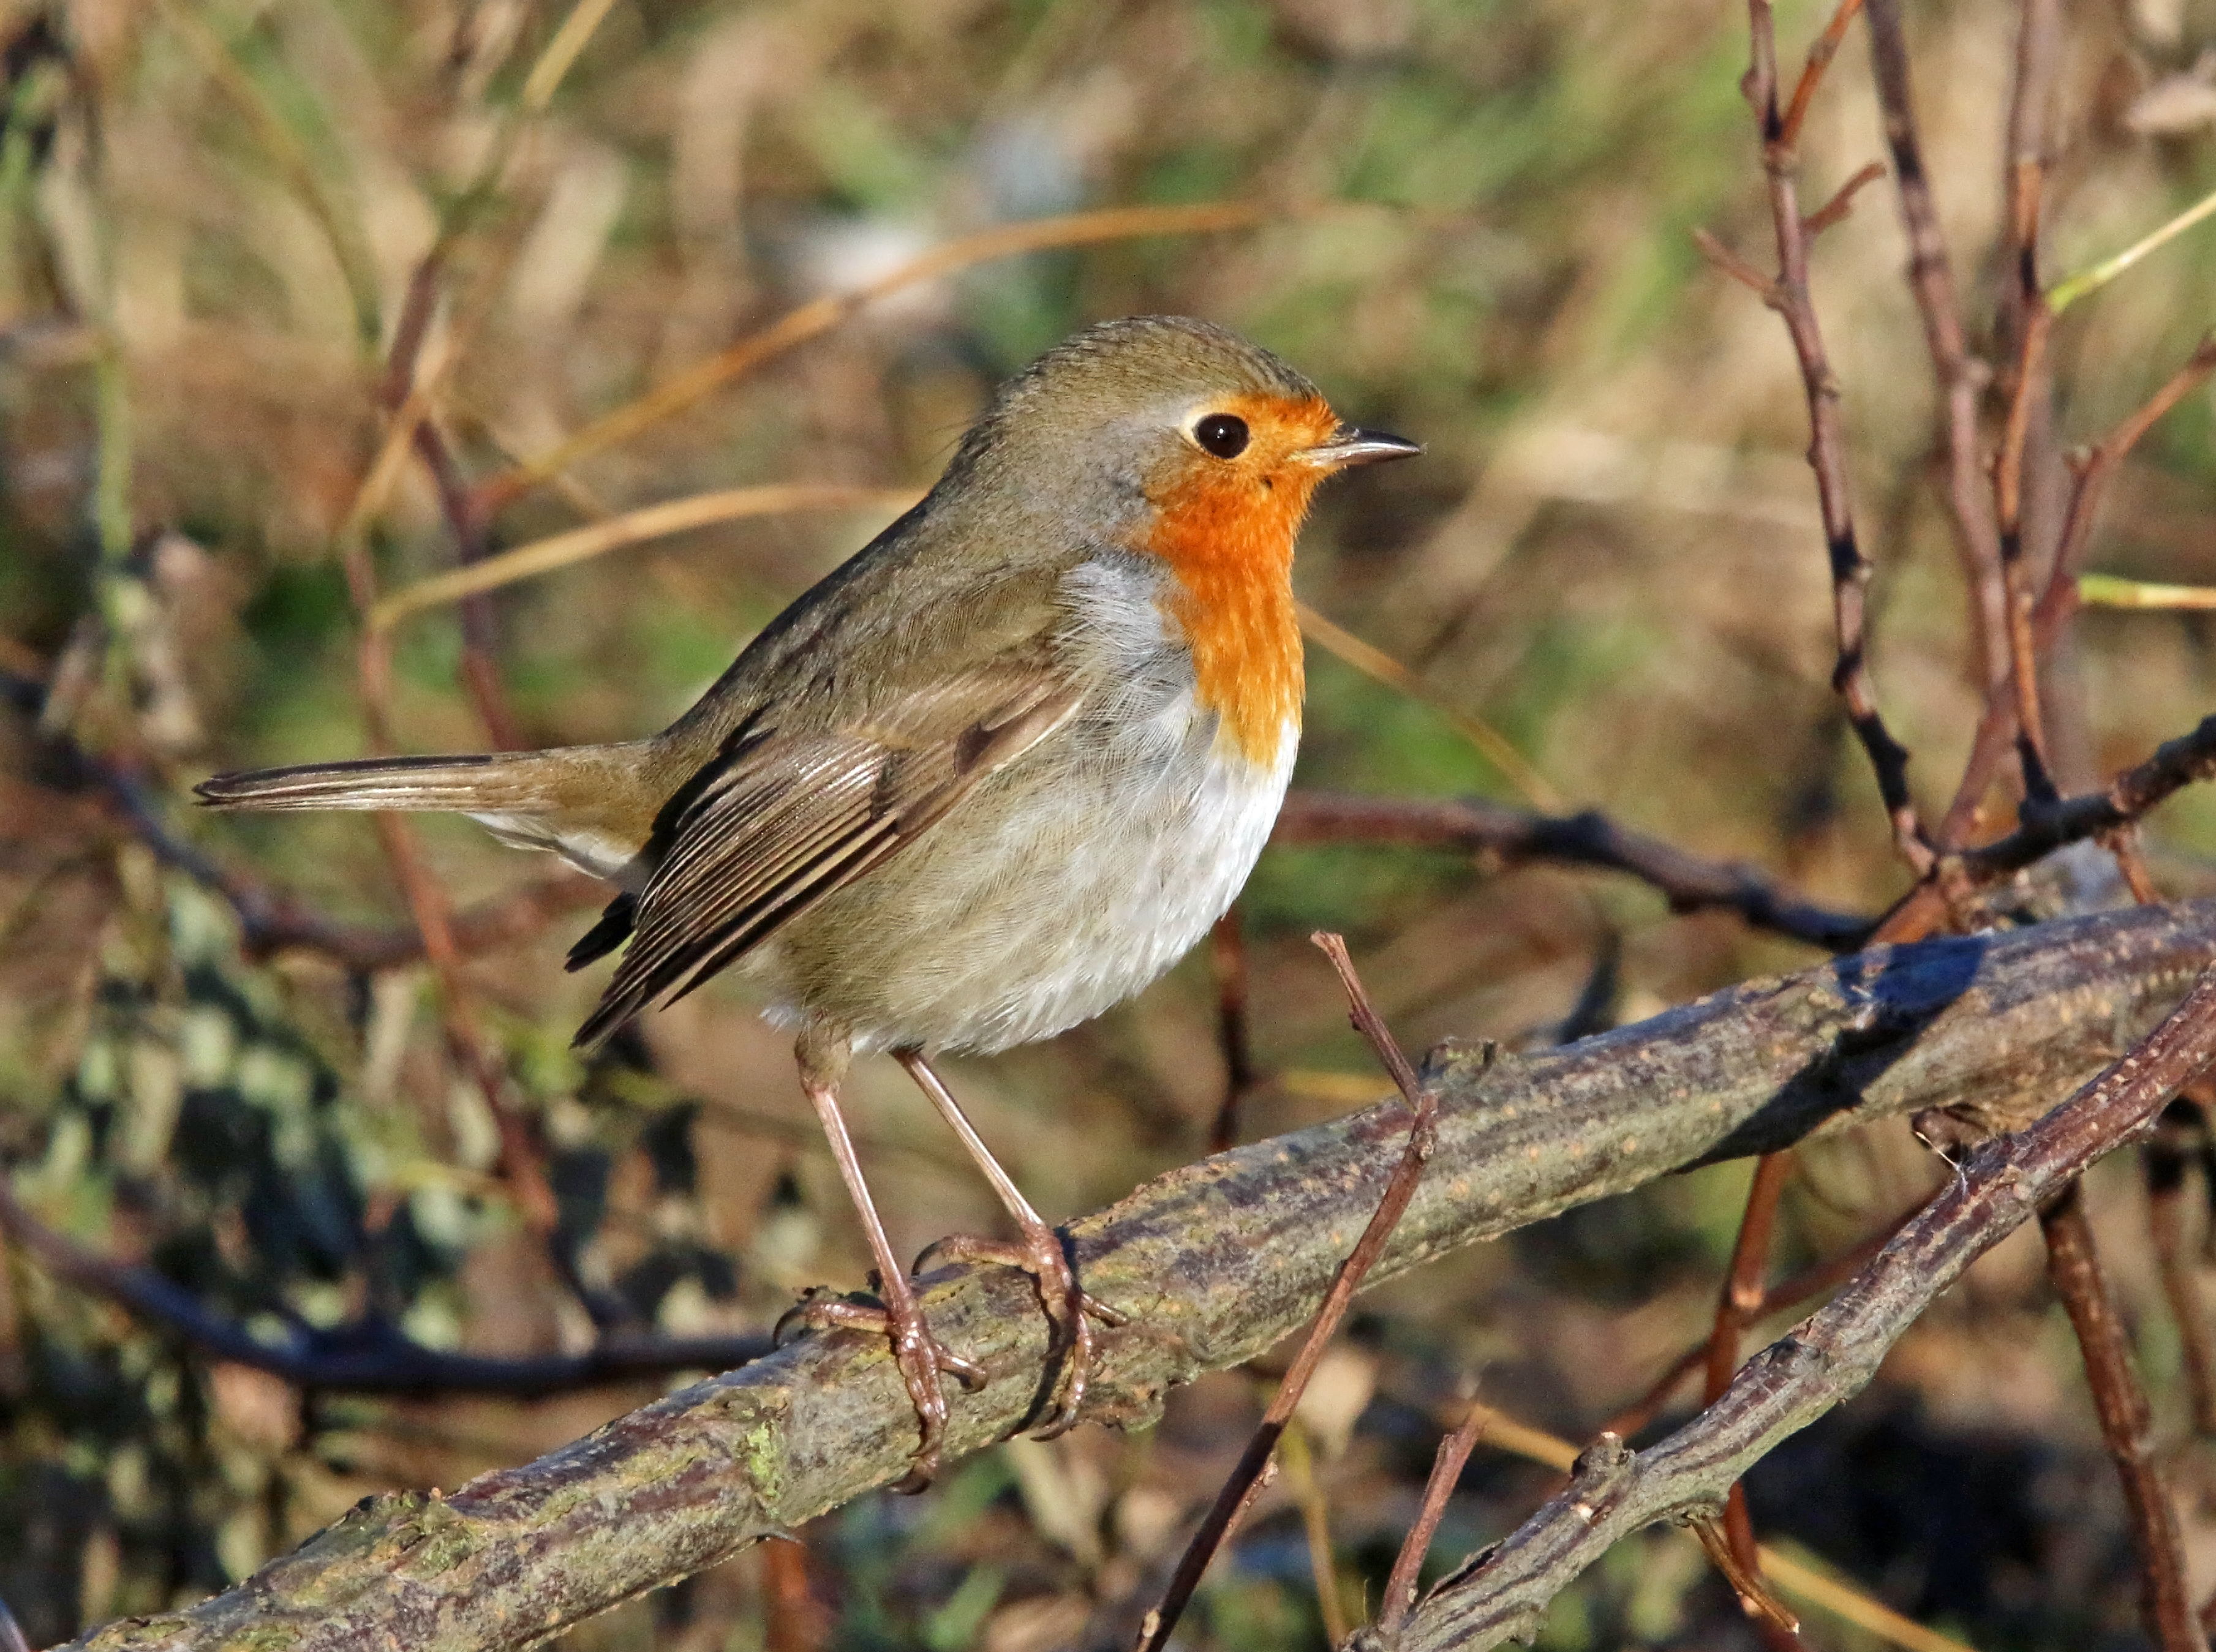
[[[632,930],[592,1050],[647,1008],[683,999],[835,888],[895,855],[979,779],[1061,724],[1077,691],[1037,664],[993,664],[911,693],[851,729],[740,737],[694,786],[627,912],[578,952]],[[594,952],[596,954],[596,952]],[[574,963],[583,961],[572,957]]]

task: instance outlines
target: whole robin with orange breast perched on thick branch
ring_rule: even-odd
[[[1416,452],[1343,425],[1221,328],[1108,321],[1008,381],[931,494],[652,740],[266,768],[199,795],[452,810],[612,881],[570,952],[576,970],[625,948],[581,1050],[725,968],[762,983],[884,1304],[802,1313],[889,1335],[922,1433],[909,1484],[929,1484],[942,1373],[984,1373],[933,1338],[893,1258],[840,1116],[849,1061],[900,1061],[993,1183],[1022,1240],[935,1249],[1035,1276],[1068,1353],[1042,1433],[1068,1428],[1092,1320],[1121,1315],[1079,1287],[933,1056],[1088,1021],[1230,908],[1301,735],[1290,574],[1310,496]]]

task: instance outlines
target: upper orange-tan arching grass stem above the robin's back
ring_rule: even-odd
[[[570,469],[587,454],[629,441],[658,425],[709,392],[751,372],[771,357],[780,357],[796,345],[818,339],[855,310],[920,281],[931,281],[973,264],[1017,257],[1019,252],[1046,252],[1059,246],[1086,246],[1092,241],[1128,241],[1146,235],[1203,235],[1210,230],[1250,230],[1272,217],[1268,208],[1245,202],[1206,202],[1199,206],[1110,206],[1097,213],[1068,213],[1064,217],[1042,217],[1026,224],[1002,224],[977,235],[964,235],[944,246],[935,246],[917,259],[902,264],[853,292],[831,292],[789,310],[762,332],[740,339],[729,350],[700,361],[674,379],[656,385],[636,401],[627,401],[603,414],[585,430],[576,432],[550,452],[523,465],[492,476],[479,487],[479,507],[490,518],[505,505],[527,494],[556,472]]]

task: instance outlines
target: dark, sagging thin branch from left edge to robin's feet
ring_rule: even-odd
[[[0,1233],[62,1284],[115,1302],[202,1357],[268,1371],[295,1388],[321,1393],[410,1397],[481,1393],[545,1400],[578,1388],[652,1382],[680,1371],[729,1371],[747,1360],[760,1360],[773,1346],[767,1335],[607,1338],[585,1353],[488,1360],[425,1349],[383,1322],[357,1322],[330,1331],[295,1329],[288,1342],[264,1342],[244,1324],[213,1313],[197,1295],[155,1269],[115,1262],[55,1233],[16,1200],[4,1174],[0,1174]]]

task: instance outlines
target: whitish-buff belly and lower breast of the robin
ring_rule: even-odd
[[[1270,837],[1299,729],[1272,762],[1243,757],[1197,704],[1152,602],[1086,613],[1088,598],[1152,574],[1115,562],[1079,576],[1075,642],[1101,655],[1099,695],[765,946],[773,1019],[833,1023],[858,1050],[1006,1050],[1128,999],[1230,908]]]

